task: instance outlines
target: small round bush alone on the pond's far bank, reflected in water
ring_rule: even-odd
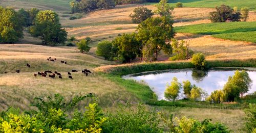
[[[206,67],[206,61],[205,57],[202,53],[197,53],[192,56],[191,63],[195,66],[197,69],[205,69]]]

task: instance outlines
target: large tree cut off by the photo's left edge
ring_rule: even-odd
[[[0,43],[14,43],[23,38],[23,24],[17,12],[0,6]]]

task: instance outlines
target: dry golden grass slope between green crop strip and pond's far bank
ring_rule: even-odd
[[[176,38],[190,40],[191,49],[203,52],[206,59],[250,59],[255,58],[255,44],[242,41],[230,41],[208,35],[177,34]]]

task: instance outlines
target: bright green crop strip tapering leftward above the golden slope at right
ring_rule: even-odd
[[[222,22],[176,27],[177,33],[212,35],[213,37],[234,41],[256,43],[256,22]]]

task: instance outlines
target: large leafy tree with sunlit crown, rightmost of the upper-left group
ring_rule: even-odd
[[[58,14],[51,10],[39,11],[29,32],[33,37],[40,36],[45,45],[65,44],[67,41],[67,32],[61,28]]]

